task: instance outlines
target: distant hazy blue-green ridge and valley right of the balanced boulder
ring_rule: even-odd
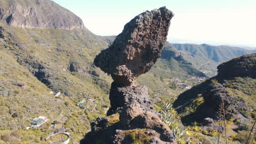
[[[255,53],[255,50],[247,50],[235,46],[212,46],[207,44],[171,44],[183,58],[192,66],[209,77],[217,75],[217,66],[232,58]]]

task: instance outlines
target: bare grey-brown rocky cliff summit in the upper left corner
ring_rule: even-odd
[[[2,0],[0,20],[22,28],[85,29],[71,11],[49,0]]]

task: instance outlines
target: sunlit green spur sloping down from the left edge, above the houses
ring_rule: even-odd
[[[12,53],[3,49],[0,52],[1,129],[26,128],[30,117],[37,115],[54,118],[59,115],[56,110],[61,110],[58,106],[63,107],[61,111],[67,110],[63,101],[57,102],[51,89],[20,65]]]

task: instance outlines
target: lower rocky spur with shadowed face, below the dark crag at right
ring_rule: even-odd
[[[211,79],[182,93],[174,101],[173,108],[178,113],[187,112],[187,115],[182,117],[182,123],[191,125],[197,122],[203,125],[203,129],[218,130],[218,125],[213,122],[223,119],[224,115],[228,120],[235,118],[240,119],[239,121],[249,121],[246,112],[250,109],[246,101],[232,93],[230,88],[224,87],[225,83],[218,83],[217,80],[223,81],[219,77]],[[192,112],[187,111],[186,107]]]

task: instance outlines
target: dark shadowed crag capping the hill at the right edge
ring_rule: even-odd
[[[220,64],[217,69],[218,76],[222,77],[256,77],[256,53],[234,58],[231,61]]]

